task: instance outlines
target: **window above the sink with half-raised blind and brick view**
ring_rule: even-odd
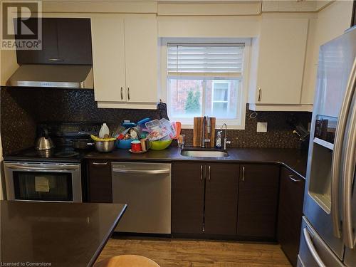
[[[167,106],[184,126],[193,117],[216,117],[217,125],[244,127],[245,43],[167,42]]]

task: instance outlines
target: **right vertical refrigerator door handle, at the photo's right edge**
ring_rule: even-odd
[[[354,73],[354,79],[352,81],[352,88],[355,91],[356,85],[356,73]],[[356,95],[354,93],[354,101],[356,101]],[[354,103],[355,104],[355,103]],[[350,123],[348,127],[348,135],[345,142],[344,159],[345,164],[342,166],[342,176],[345,177],[342,192],[342,220],[345,225],[343,231],[343,239],[347,248],[354,248],[354,235],[352,231],[352,181],[355,176],[356,165],[356,105],[353,106],[352,112],[348,119]]]

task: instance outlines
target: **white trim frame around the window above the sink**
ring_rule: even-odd
[[[250,57],[251,57],[251,38],[159,38],[160,44],[160,87],[159,95],[162,101],[167,103],[169,99],[169,90],[167,90],[167,46],[168,43],[244,43],[244,59],[242,66],[242,77],[238,78],[241,82],[241,93],[239,93],[239,98],[237,103],[241,103],[241,106],[237,108],[237,113],[239,117],[237,119],[219,119],[216,118],[216,128],[221,127],[222,124],[226,123],[228,129],[234,130],[244,130],[245,129],[245,120],[246,120],[246,103],[248,97],[248,80],[249,80],[249,68],[250,68]],[[198,78],[198,76],[197,76]],[[202,76],[201,78],[205,78]],[[226,80],[229,78],[226,78]],[[219,80],[213,78],[212,80]],[[231,77],[231,80],[234,78]],[[221,79],[224,81],[224,79]],[[204,99],[203,99],[204,101]],[[172,115],[169,114],[170,110],[167,109],[169,117]],[[193,129],[193,120],[192,119],[182,119],[182,128],[184,129]]]

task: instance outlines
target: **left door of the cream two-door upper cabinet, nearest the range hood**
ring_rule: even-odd
[[[126,101],[124,17],[91,19],[96,101]]]

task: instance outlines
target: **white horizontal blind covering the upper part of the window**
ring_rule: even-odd
[[[241,77],[244,43],[168,43],[168,75]]]

